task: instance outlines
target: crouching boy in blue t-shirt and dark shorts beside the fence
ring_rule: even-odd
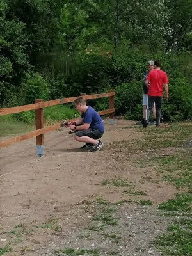
[[[91,148],[90,151],[100,150],[104,146],[99,140],[104,134],[104,124],[100,115],[91,106],[87,106],[81,96],[74,101],[74,106],[81,112],[76,125],[69,125],[70,129],[76,132],[75,140],[86,143],[81,148]]]

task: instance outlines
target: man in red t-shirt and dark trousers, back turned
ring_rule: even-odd
[[[148,118],[154,104],[156,104],[157,122],[156,126],[160,127],[161,118],[161,106],[163,99],[163,87],[165,89],[165,100],[168,100],[168,78],[166,72],[161,70],[161,62],[156,60],[154,63],[154,70],[148,73],[145,84],[148,87],[148,108],[147,108],[147,120],[144,122],[143,127],[147,127],[149,124]]]

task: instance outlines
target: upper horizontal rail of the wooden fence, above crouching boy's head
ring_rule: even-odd
[[[86,96],[83,96],[83,98],[85,100],[88,100],[88,99],[97,99],[97,98],[104,98],[104,97],[110,97],[110,96],[115,96],[115,92],[86,95]],[[34,110],[34,109],[38,109],[38,108],[46,108],[49,106],[55,106],[55,105],[64,104],[64,103],[70,103],[70,102],[74,102],[75,99],[77,99],[77,97],[64,98],[64,99],[58,99],[58,100],[49,100],[49,101],[45,101],[45,102],[29,104],[29,105],[24,105],[24,106],[18,106],[18,107],[12,107],[12,108],[1,108],[0,116]]]

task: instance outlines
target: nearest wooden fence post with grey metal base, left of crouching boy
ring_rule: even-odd
[[[35,103],[43,102],[42,99],[35,100]],[[36,130],[44,127],[44,108],[35,109]],[[44,154],[44,134],[36,136],[36,154],[43,157]]]

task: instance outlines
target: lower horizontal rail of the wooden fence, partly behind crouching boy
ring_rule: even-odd
[[[114,112],[115,112],[115,109],[113,108],[113,109],[107,109],[107,110],[104,110],[104,111],[100,111],[98,113],[99,113],[99,115],[106,115],[106,114],[114,113]],[[74,118],[71,121],[74,121],[76,119],[77,118]],[[15,143],[18,143],[20,141],[28,140],[28,139],[31,139],[31,138],[36,137],[38,135],[54,131],[56,129],[60,129],[60,123],[59,124],[54,124],[54,125],[51,125],[51,126],[48,126],[48,127],[44,127],[42,129],[38,129],[36,131],[28,132],[26,134],[22,134],[20,136],[15,137],[15,138],[11,138],[10,140],[1,141],[0,142],[0,148],[8,147],[8,146],[13,145]]]

